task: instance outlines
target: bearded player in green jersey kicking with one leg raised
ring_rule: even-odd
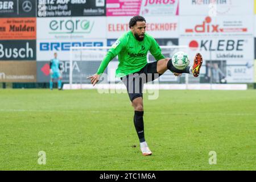
[[[190,73],[199,76],[203,58],[197,53],[192,67],[179,70],[172,65],[170,58],[163,56],[161,49],[152,36],[146,33],[146,20],[142,16],[134,16],[129,22],[130,31],[123,34],[109,49],[102,60],[98,71],[90,78],[93,86],[99,81],[100,76],[109,62],[118,55],[118,68],[116,76],[120,77],[127,88],[131,103],[134,107],[134,126],[137,131],[143,155],[151,155],[144,138],[143,124],[143,84],[163,75],[169,69],[175,76],[181,73]],[[156,61],[147,63],[147,52],[155,57]]]

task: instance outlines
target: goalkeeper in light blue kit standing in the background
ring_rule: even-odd
[[[61,90],[61,71],[60,71],[60,61],[57,59],[57,53],[54,53],[54,59],[50,61],[50,75],[51,80],[49,82],[49,88],[53,89],[53,79],[58,79],[58,89]]]

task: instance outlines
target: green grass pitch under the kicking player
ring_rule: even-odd
[[[141,154],[133,114],[127,94],[2,89],[0,170],[256,169],[256,90],[145,94],[152,156]]]

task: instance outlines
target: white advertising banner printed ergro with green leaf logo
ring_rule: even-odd
[[[37,18],[38,39],[106,38],[106,17]]]

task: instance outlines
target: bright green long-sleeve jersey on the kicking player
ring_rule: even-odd
[[[152,36],[144,34],[143,41],[138,41],[133,32],[123,34],[109,49],[104,60],[102,60],[97,74],[104,72],[109,62],[118,55],[118,68],[116,77],[122,77],[140,71],[147,64],[147,52],[155,57],[156,61],[164,59],[161,49]]]

